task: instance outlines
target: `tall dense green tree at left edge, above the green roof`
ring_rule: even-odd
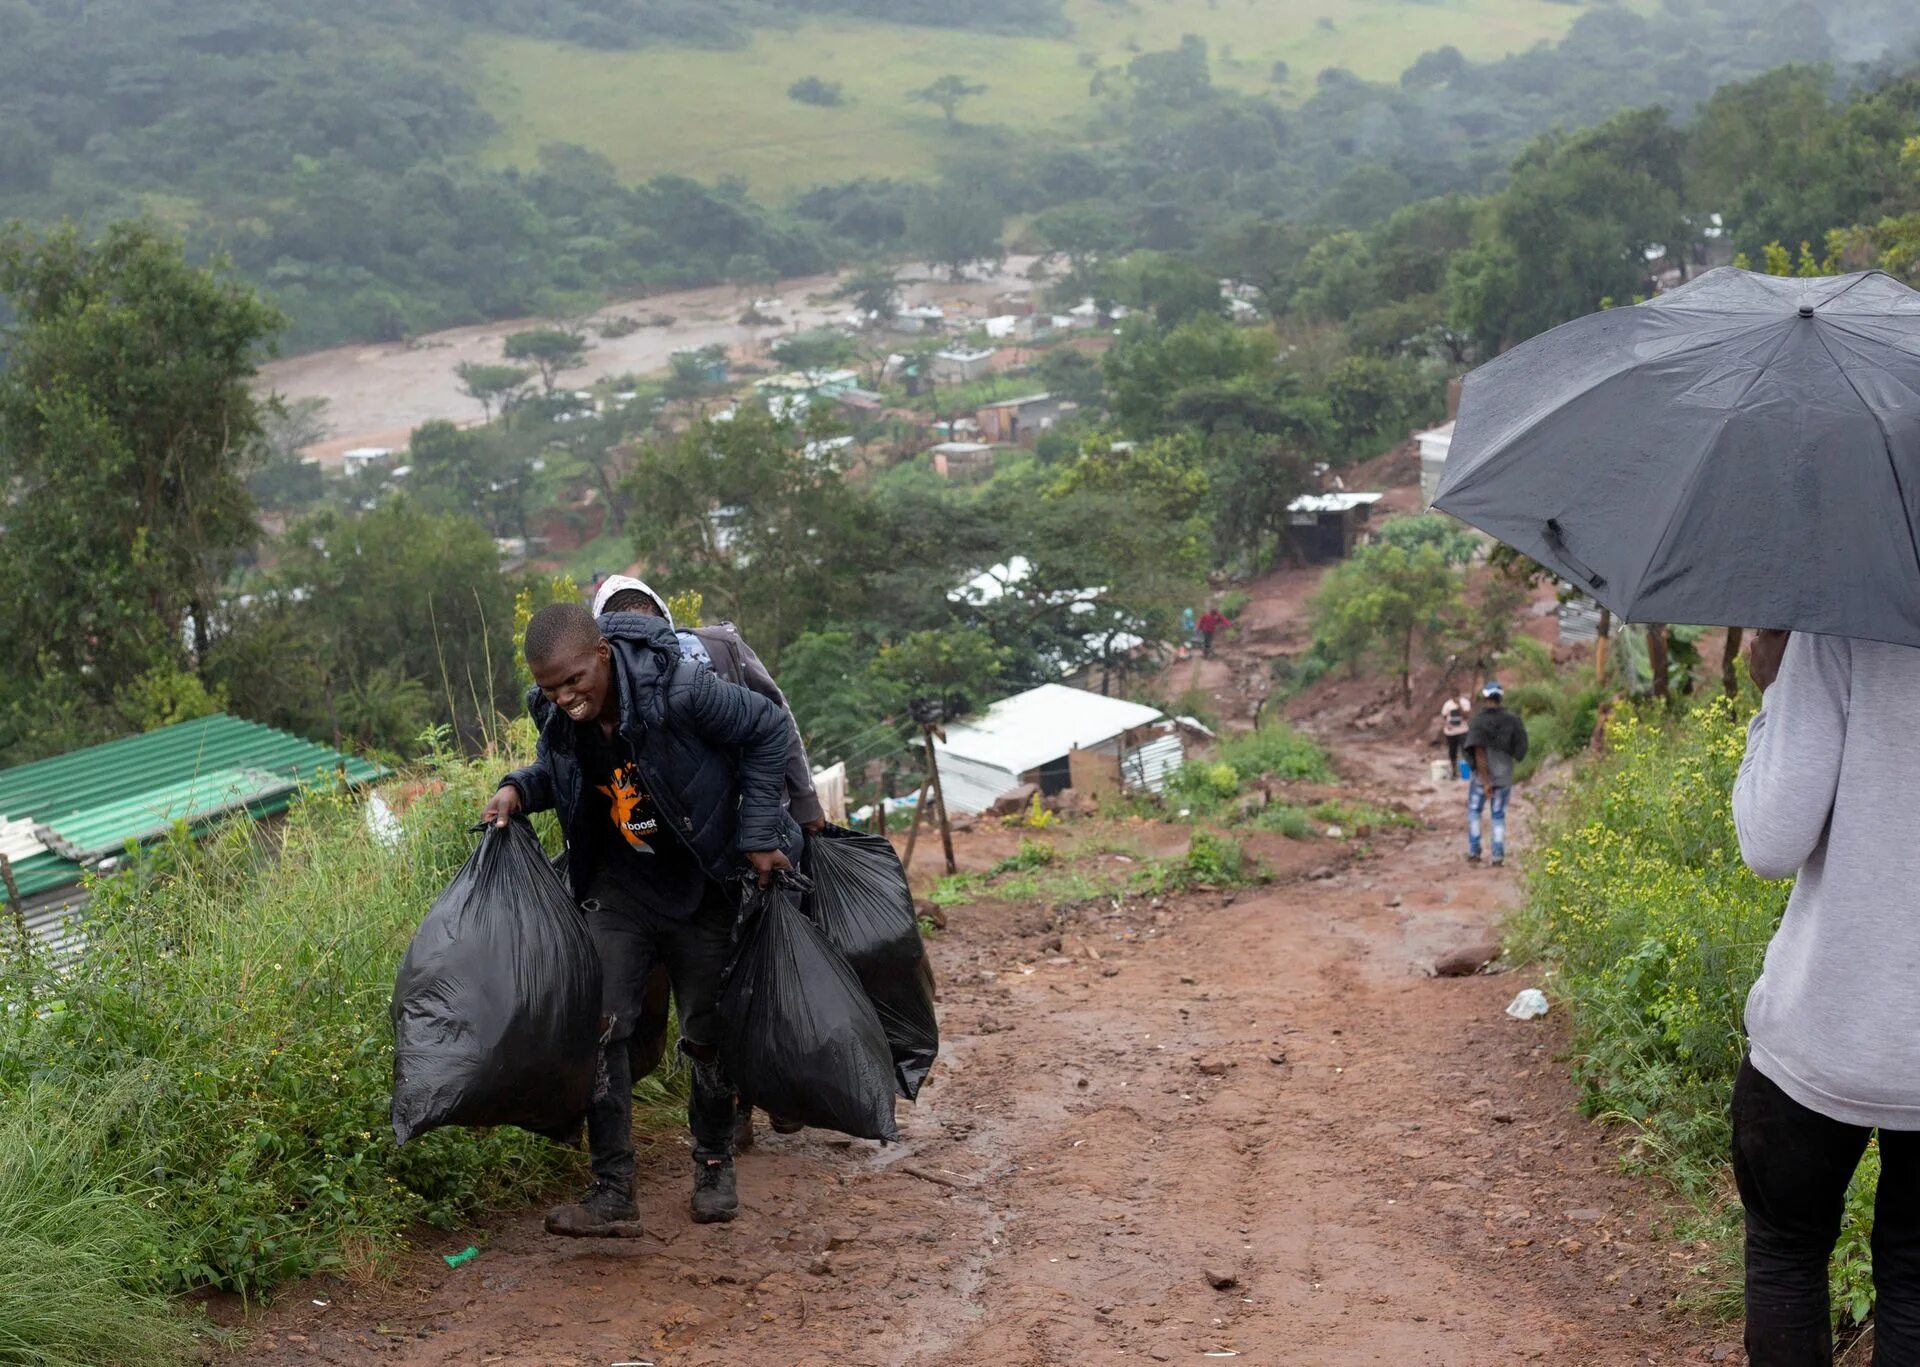
[[[0,622],[13,680],[48,664],[96,701],[204,651],[259,530],[253,363],[280,317],[152,227],[0,236]]]

